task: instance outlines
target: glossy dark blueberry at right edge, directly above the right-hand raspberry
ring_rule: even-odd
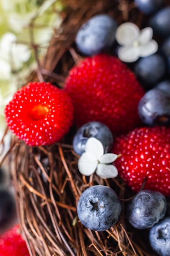
[[[170,94],[155,88],[149,90],[139,101],[138,113],[148,126],[170,124]]]

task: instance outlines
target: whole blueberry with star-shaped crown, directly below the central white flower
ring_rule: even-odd
[[[119,220],[120,201],[113,189],[96,185],[86,189],[79,198],[77,214],[82,224],[95,231],[113,227]]]

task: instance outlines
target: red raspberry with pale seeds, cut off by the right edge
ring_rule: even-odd
[[[133,191],[152,189],[170,196],[170,128],[136,128],[117,137],[113,145],[119,175]]]

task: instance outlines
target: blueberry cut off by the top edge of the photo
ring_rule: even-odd
[[[151,14],[163,6],[163,0],[135,0],[137,8],[144,14]]]

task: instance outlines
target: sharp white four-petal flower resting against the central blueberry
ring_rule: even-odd
[[[118,175],[117,168],[110,164],[117,159],[117,155],[104,154],[102,143],[95,138],[89,138],[85,145],[85,152],[78,160],[79,172],[89,176],[95,171],[102,179],[113,178]]]

